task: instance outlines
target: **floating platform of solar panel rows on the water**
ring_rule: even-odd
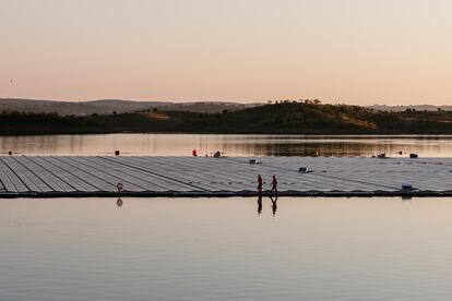
[[[452,196],[452,158],[0,157],[0,197]],[[120,183],[121,190],[118,190]]]

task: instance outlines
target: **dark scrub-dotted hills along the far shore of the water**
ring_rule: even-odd
[[[221,113],[0,115],[1,134],[57,133],[452,134],[452,111],[377,111],[365,107],[279,103]]]

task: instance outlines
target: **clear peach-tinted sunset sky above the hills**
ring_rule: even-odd
[[[452,105],[450,0],[0,0],[0,97]]]

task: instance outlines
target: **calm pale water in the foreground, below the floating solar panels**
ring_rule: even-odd
[[[452,297],[452,198],[0,204],[0,300]]]

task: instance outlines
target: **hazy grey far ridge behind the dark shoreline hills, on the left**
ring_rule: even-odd
[[[93,101],[50,101],[34,99],[0,98],[0,112],[34,112],[52,113],[61,116],[86,116],[92,113],[109,115],[112,112],[136,112],[157,108],[159,110],[191,111],[191,112],[222,112],[223,110],[239,110],[255,105],[237,103],[187,103],[176,104],[168,101],[132,101],[118,99],[103,99]]]

